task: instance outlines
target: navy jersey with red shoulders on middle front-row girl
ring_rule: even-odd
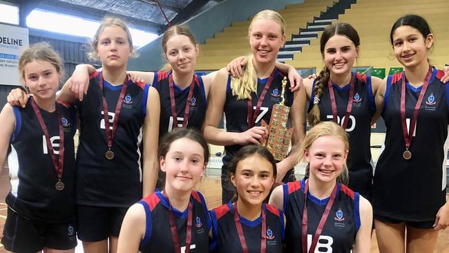
[[[238,236],[236,222],[233,216],[233,205],[229,202],[211,211],[212,242],[211,252],[243,252]],[[283,212],[272,205],[262,204],[262,212],[265,212],[267,247],[265,252],[282,252],[284,239],[284,215]],[[262,216],[254,221],[248,221],[240,216],[243,235],[247,243],[248,252],[260,252],[262,240]]]

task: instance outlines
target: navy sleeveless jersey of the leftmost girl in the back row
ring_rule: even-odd
[[[6,203],[26,218],[50,223],[64,223],[75,218],[74,182],[75,149],[73,136],[77,129],[76,111],[68,104],[56,103],[56,111],[39,109],[50,134],[56,159],[59,158],[59,119],[64,128],[64,189],[57,191],[55,166],[48,152],[47,140],[30,100],[25,108],[13,107],[16,126],[10,140],[8,165],[11,191]]]

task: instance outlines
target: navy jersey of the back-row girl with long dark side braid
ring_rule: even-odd
[[[347,122],[346,132],[350,142],[350,153],[347,156],[347,169],[350,172],[350,181],[347,185],[353,191],[371,195],[372,192],[372,165],[371,165],[371,118],[376,112],[374,97],[372,95],[371,76],[360,73],[352,73],[354,76],[354,102]],[[314,91],[315,82],[312,86]],[[349,100],[350,84],[340,87],[332,83],[334,89],[335,104],[337,109],[338,124],[343,125]],[[314,93],[309,102],[309,110],[314,105]],[[320,103],[321,121],[333,121],[332,102],[329,88],[325,84]]]

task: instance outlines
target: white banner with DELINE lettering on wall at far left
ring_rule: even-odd
[[[0,24],[0,84],[20,85],[19,58],[28,43],[28,28]]]

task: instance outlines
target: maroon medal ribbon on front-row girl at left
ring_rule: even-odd
[[[181,246],[178,236],[178,228],[176,228],[175,224],[175,216],[173,215],[173,207],[170,205],[169,197],[166,195],[165,191],[162,193],[162,195],[166,198],[167,203],[169,204],[169,220],[170,220],[170,229],[171,229],[171,236],[173,236],[173,246],[175,247],[175,253],[181,252]],[[190,245],[192,241],[192,209],[193,209],[193,203],[191,200],[189,200],[189,207],[187,211],[187,232],[186,232],[186,253],[190,252]]]

